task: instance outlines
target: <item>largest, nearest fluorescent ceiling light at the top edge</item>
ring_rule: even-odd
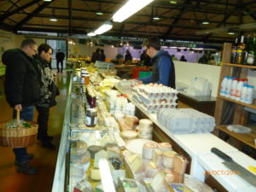
[[[154,0],[129,0],[113,15],[113,21],[122,22],[123,20],[126,20],[153,1]]]

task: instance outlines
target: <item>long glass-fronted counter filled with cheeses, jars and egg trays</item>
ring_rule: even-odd
[[[209,128],[202,129],[198,118],[193,122],[201,129],[195,126],[180,134],[174,122],[183,131],[189,130],[178,118],[191,123],[189,115],[199,112],[185,110],[184,117],[180,110],[178,118],[172,117],[172,126],[166,126],[160,116],[169,118],[169,112],[177,110],[176,90],[154,84],[132,88],[130,81],[97,72],[89,72],[88,84],[81,78],[83,73],[88,71],[82,69],[72,76],[53,192],[213,191],[203,183],[211,167],[204,157],[211,154],[212,147],[225,153],[237,149],[209,132],[211,116],[203,116]],[[250,162],[256,166],[254,160]],[[223,183],[221,177],[213,177]]]

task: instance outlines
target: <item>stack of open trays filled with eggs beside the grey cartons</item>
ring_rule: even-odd
[[[143,103],[148,112],[160,108],[177,107],[177,90],[162,84],[141,84],[132,88],[134,98]]]

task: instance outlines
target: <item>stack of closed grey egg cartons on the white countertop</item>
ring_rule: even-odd
[[[215,119],[192,108],[168,108],[157,112],[157,120],[173,133],[212,132]]]

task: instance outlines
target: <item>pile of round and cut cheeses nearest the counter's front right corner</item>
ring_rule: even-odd
[[[126,151],[124,153],[132,177],[138,181],[143,177],[153,178],[151,185],[154,191],[165,190],[168,183],[183,182],[183,174],[188,162],[172,150],[170,143],[145,143],[143,157],[138,154],[128,154]]]

